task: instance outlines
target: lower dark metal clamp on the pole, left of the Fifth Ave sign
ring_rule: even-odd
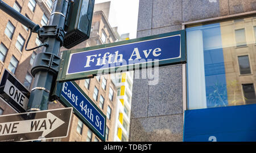
[[[48,71],[56,76],[59,71],[60,60],[60,57],[53,53],[39,53],[35,57],[31,74],[35,77],[38,71]]]

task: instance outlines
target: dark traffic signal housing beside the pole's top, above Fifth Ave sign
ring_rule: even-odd
[[[89,39],[94,0],[74,0],[69,4],[63,46],[67,49]]]

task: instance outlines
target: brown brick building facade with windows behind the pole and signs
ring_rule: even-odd
[[[34,23],[39,24],[40,27],[47,25],[51,14],[51,7],[53,5],[53,0],[4,0],[4,2],[20,11],[21,14],[27,16],[27,18],[31,19]],[[104,9],[99,10],[99,8],[102,7]],[[75,46],[73,49],[101,45],[117,40],[117,36],[115,36],[112,27],[110,27],[108,23],[109,7],[110,2],[94,6],[94,10],[96,12],[94,12],[93,15],[90,39]],[[1,10],[0,16],[0,75],[2,76],[3,71],[7,69],[12,72],[13,75],[24,84],[24,86],[27,86],[28,90],[31,90],[31,84],[33,82],[33,77],[30,73],[31,66],[36,54],[42,52],[42,48],[30,52],[24,50],[30,31]],[[27,48],[33,48],[38,46],[40,43],[42,42],[40,42],[37,39],[37,35],[33,33]],[[61,48],[60,50],[63,51],[66,49]],[[106,114],[106,141],[113,141],[113,126],[115,122],[113,114],[115,114],[115,105],[117,103],[117,88],[112,82],[112,79],[110,79],[109,75],[101,75],[100,77],[94,77],[92,79],[77,80],[76,83],[79,84],[85,94],[87,94],[93,102],[99,106],[102,112]],[[55,108],[64,108],[64,106],[57,100],[50,101],[48,109]],[[12,114],[16,112],[1,99],[0,113]],[[47,141],[100,141],[100,139],[96,138],[96,136],[73,114],[68,137],[49,139]]]

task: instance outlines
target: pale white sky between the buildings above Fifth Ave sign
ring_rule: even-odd
[[[137,35],[139,0],[96,0],[95,3],[110,3],[109,24],[118,27],[119,35],[130,33],[130,39]]]

